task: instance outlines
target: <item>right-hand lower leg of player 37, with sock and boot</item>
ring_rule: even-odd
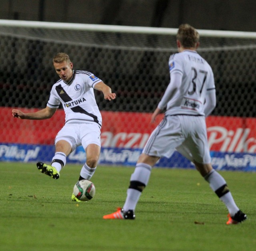
[[[210,188],[212,188],[212,190],[216,193],[220,200],[226,205],[229,211],[229,219],[227,221],[227,224],[237,224],[244,221],[247,216],[242,211],[240,211],[238,206],[236,206],[232,194],[226,184],[226,180],[224,180],[224,178],[212,168],[212,165],[210,163],[202,164],[194,161],[194,164],[196,166],[196,169],[210,184]]]

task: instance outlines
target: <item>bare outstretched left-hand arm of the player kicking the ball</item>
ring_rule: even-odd
[[[20,110],[13,109],[12,110],[12,116],[18,119],[50,119],[52,115],[56,112],[57,109],[52,109],[50,107],[46,107],[42,110],[39,110],[34,113],[23,113]]]

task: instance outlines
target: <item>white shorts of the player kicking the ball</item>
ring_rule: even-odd
[[[96,123],[68,123],[56,135],[54,144],[59,140],[70,143],[72,151],[82,145],[84,149],[88,144],[100,146],[100,127]]]

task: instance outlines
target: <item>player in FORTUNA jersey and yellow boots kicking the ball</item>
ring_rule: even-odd
[[[68,154],[82,145],[86,151],[86,163],[81,169],[79,180],[90,180],[100,156],[102,125],[93,89],[102,91],[104,99],[109,101],[115,99],[116,94],[89,71],[73,70],[73,63],[66,53],[58,53],[52,61],[60,80],[53,85],[46,108],[35,113],[23,113],[13,109],[12,115],[19,119],[49,119],[62,103],[66,122],[55,138],[55,155],[52,163],[47,165],[38,162],[37,168],[42,173],[58,179]],[[72,200],[79,201],[74,194]]]

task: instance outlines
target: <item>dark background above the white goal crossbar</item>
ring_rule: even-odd
[[[255,0],[1,0],[0,19],[256,32]]]

